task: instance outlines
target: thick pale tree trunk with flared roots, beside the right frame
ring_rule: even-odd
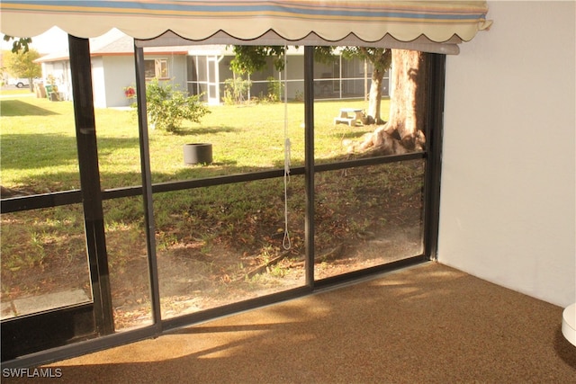
[[[422,52],[392,49],[390,119],[366,135],[357,149],[372,156],[400,155],[424,148],[428,95],[426,67],[426,55]],[[374,84],[373,76],[373,87]],[[381,89],[380,85],[378,89]],[[372,91],[371,105],[374,100]]]

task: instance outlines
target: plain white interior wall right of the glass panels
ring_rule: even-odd
[[[489,1],[446,62],[438,261],[576,301],[575,2]]]

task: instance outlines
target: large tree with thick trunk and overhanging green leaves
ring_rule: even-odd
[[[253,73],[266,66],[266,57],[275,57],[275,68],[284,69],[284,47],[235,46],[236,57],[231,62],[235,72]],[[402,154],[420,150],[426,143],[424,135],[425,103],[428,94],[426,55],[415,50],[347,47],[345,58],[361,58],[373,66],[366,124],[374,124],[374,131],[360,143],[349,143],[350,151],[366,156]],[[315,59],[329,62],[333,48],[317,47]],[[391,69],[390,118],[381,118],[382,81]]]

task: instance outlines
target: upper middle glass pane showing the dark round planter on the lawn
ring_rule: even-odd
[[[193,94],[203,94],[201,100],[211,104],[205,105],[208,112],[198,121],[178,121],[173,132],[150,129],[153,183],[282,169],[285,138],[291,140],[292,165],[303,164],[303,83],[285,85],[284,80],[292,82],[293,78],[278,72],[272,58],[266,59],[262,71],[234,75],[229,68],[232,58],[230,48],[211,46],[205,56],[188,60],[193,66],[184,76],[175,73],[170,85],[192,88]],[[302,66],[303,60],[298,58],[291,61],[288,72],[302,79]],[[284,86],[289,91],[287,105],[283,103]],[[189,156],[189,150],[195,151],[191,144],[207,144],[209,161],[194,161],[198,157]]]

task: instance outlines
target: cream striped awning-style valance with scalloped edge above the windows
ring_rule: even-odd
[[[472,40],[491,24],[485,1],[2,0],[0,11],[2,32],[14,37],[33,37],[58,26],[91,38],[116,28],[155,45],[192,40],[406,49],[420,45],[420,50],[443,51]]]

